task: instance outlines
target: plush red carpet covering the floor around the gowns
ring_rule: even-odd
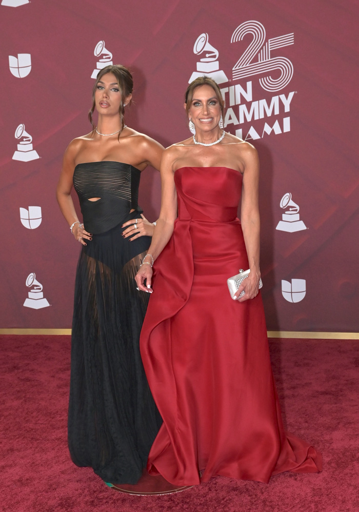
[[[357,512],[359,342],[271,340],[289,431],[323,453],[323,472],[268,485],[222,477],[167,496],[131,496],[77,468],[66,444],[70,338],[0,337],[0,510],[16,512]]]

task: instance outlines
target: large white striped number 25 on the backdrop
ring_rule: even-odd
[[[273,80],[273,78],[268,75],[260,78],[260,84],[266,91],[279,91],[283,89],[292,79],[293,64],[286,57],[271,57],[271,50],[292,45],[294,43],[294,34],[291,33],[273,37],[263,46],[266,38],[264,26],[260,22],[248,21],[242,23],[235,29],[232,34],[231,43],[242,41],[246,34],[252,34],[253,41],[233,67],[233,80],[276,70],[281,72],[279,78]],[[258,62],[252,63],[256,53],[258,53]]]

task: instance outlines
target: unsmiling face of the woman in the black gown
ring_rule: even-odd
[[[131,100],[131,95],[122,99],[121,90],[113,73],[104,74],[96,84],[95,106],[100,114],[114,115],[122,109],[123,103]]]

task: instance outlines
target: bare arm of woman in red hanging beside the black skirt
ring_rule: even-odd
[[[174,184],[174,173],[172,170],[173,160],[173,148],[166,149],[162,156],[160,170],[161,211],[159,212],[159,217],[153,231],[151,245],[147,251],[148,254],[151,254],[153,261],[158,258],[159,254],[161,254],[171,238],[173,224],[177,216],[177,193]],[[144,258],[144,260],[148,263],[152,263],[149,256],[146,259]],[[142,265],[135,277],[138,288],[142,291],[152,293],[151,278],[151,265]],[[144,285],[145,280],[146,286]]]

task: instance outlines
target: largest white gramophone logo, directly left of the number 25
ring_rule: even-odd
[[[198,76],[203,75],[213,78],[217,84],[228,82],[225,72],[220,70],[220,63],[217,61],[218,50],[208,43],[208,34],[206,32],[197,37],[197,41],[193,46],[193,53],[195,55],[203,55],[200,61],[197,62],[197,71],[193,71],[188,82],[189,84]]]

